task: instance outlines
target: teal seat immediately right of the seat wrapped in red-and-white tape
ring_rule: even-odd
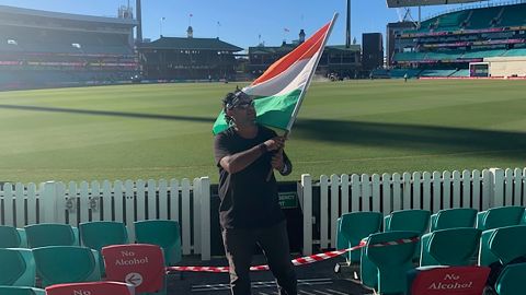
[[[439,229],[422,236],[420,266],[470,266],[481,231],[473,227]]]

